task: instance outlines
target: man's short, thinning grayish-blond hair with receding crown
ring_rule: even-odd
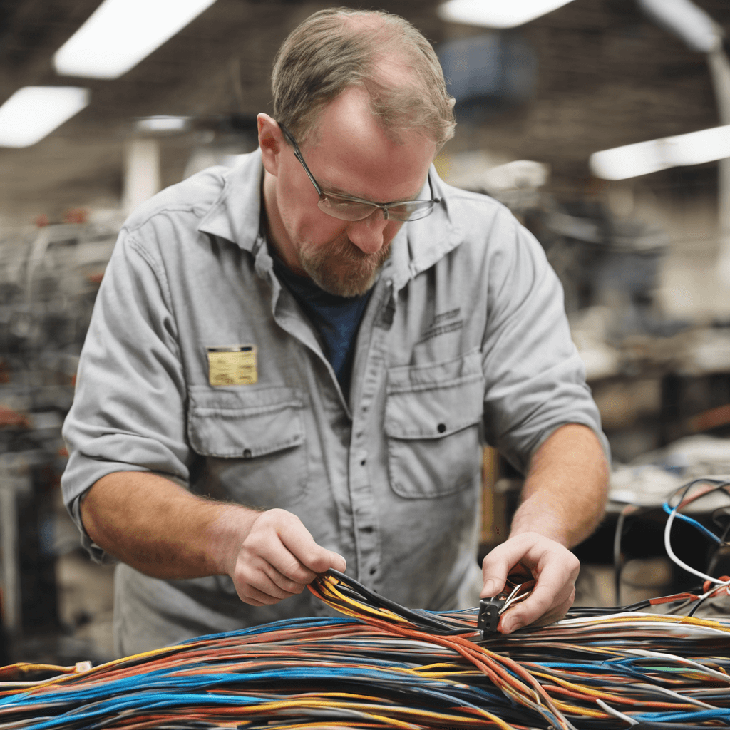
[[[378,64],[396,61],[407,82],[393,84]],[[299,141],[310,139],[320,112],[351,86],[364,88],[383,128],[420,131],[437,148],[453,137],[453,99],[434,49],[399,15],[328,8],[297,26],[272,72],[274,118]]]

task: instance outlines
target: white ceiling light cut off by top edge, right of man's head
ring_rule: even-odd
[[[449,0],[437,8],[450,23],[487,28],[515,28],[572,0]]]

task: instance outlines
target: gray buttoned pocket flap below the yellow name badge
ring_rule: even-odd
[[[188,438],[203,456],[253,458],[304,443],[304,407],[293,388],[191,388]]]

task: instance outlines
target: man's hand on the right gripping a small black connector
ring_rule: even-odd
[[[575,579],[580,562],[564,545],[537,532],[516,534],[491,550],[482,563],[482,598],[502,591],[507,575],[517,566],[531,572],[535,585],[523,602],[508,608],[498,631],[512,631],[530,623],[544,625],[563,618],[575,598]]]

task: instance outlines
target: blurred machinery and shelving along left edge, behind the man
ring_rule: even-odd
[[[98,216],[101,218],[101,216]],[[0,236],[2,623],[12,656],[74,658],[64,645],[56,570],[78,548],[61,510],[61,425],[120,219],[28,226]],[[42,221],[45,223],[45,221]],[[69,540],[69,527],[72,539]],[[99,656],[96,647],[84,647]]]

